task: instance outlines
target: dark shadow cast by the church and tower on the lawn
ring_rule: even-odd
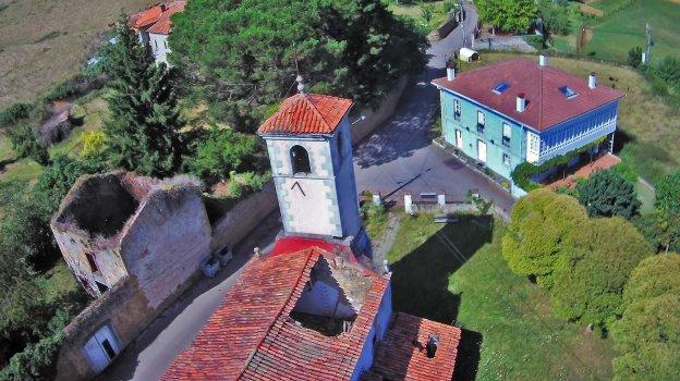
[[[449,278],[485,244],[490,243],[494,219],[460,216],[391,266],[394,310],[453,324],[462,294],[449,291]],[[406,233],[408,234],[408,233]],[[463,329],[456,379],[474,380],[483,336]]]

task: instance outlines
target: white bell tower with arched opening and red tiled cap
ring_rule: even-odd
[[[257,131],[267,143],[287,235],[355,238],[362,232],[352,164],[350,99],[299,93]]]

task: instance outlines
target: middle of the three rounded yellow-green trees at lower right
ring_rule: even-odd
[[[631,271],[649,255],[644,237],[622,218],[592,219],[581,225],[555,269],[556,315],[608,325],[620,311]]]

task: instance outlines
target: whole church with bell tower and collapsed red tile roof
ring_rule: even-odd
[[[251,259],[163,380],[452,379],[460,329],[394,314],[390,274],[365,255],[351,106],[301,87],[262,125],[284,233]]]

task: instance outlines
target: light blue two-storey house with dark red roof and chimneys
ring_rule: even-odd
[[[623,94],[587,78],[518,58],[462,74],[453,69],[433,81],[440,90],[445,140],[460,153],[507,180],[523,196],[512,170],[529,161],[544,163],[605,138],[610,150]]]

